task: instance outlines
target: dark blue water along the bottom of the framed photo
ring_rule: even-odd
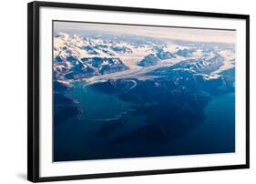
[[[55,125],[55,161],[235,151],[233,93],[212,97],[203,110],[205,116],[203,122],[186,130],[186,134],[171,138],[162,135],[172,132],[164,131],[164,134],[162,127],[148,125],[145,116],[132,113],[134,110],[132,103],[125,102],[116,95],[77,84],[68,96],[79,102],[84,113],[69,118],[65,123]],[[135,139],[129,142],[128,138],[123,141],[122,135],[128,134],[138,134],[128,138],[138,138],[143,141],[139,142]],[[157,142],[150,140],[150,137],[157,138]],[[122,141],[113,141],[117,138]]]

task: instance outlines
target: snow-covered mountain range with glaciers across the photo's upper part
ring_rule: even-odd
[[[109,36],[55,33],[56,79],[70,82],[89,80],[90,77],[106,80],[127,74],[128,77],[141,77],[159,67],[168,66],[213,79],[235,66],[235,51],[231,45],[186,42],[179,45],[148,37],[128,40],[126,36],[114,36],[111,39]]]

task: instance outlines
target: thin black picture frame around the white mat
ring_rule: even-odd
[[[110,10],[118,12],[149,13],[161,15],[196,15],[205,17],[220,17],[231,19],[244,19],[246,21],[246,164],[228,165],[218,167],[201,167],[186,169],[159,169],[141,170],[117,173],[85,174],[73,176],[58,176],[41,178],[39,176],[39,8],[61,7],[73,9]],[[123,7],[109,5],[81,5],[69,3],[32,2],[27,6],[27,179],[32,182],[57,181],[70,179],[97,179],[111,177],[128,177],[140,175],[156,175],[180,172],[196,172],[223,169],[249,169],[250,168],[250,15],[219,14],[208,12],[178,11],[167,9]]]

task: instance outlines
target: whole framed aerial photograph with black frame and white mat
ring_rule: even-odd
[[[250,167],[250,15],[31,2],[27,179]]]

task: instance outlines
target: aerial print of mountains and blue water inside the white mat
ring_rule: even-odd
[[[235,152],[236,30],[53,21],[53,161]]]

